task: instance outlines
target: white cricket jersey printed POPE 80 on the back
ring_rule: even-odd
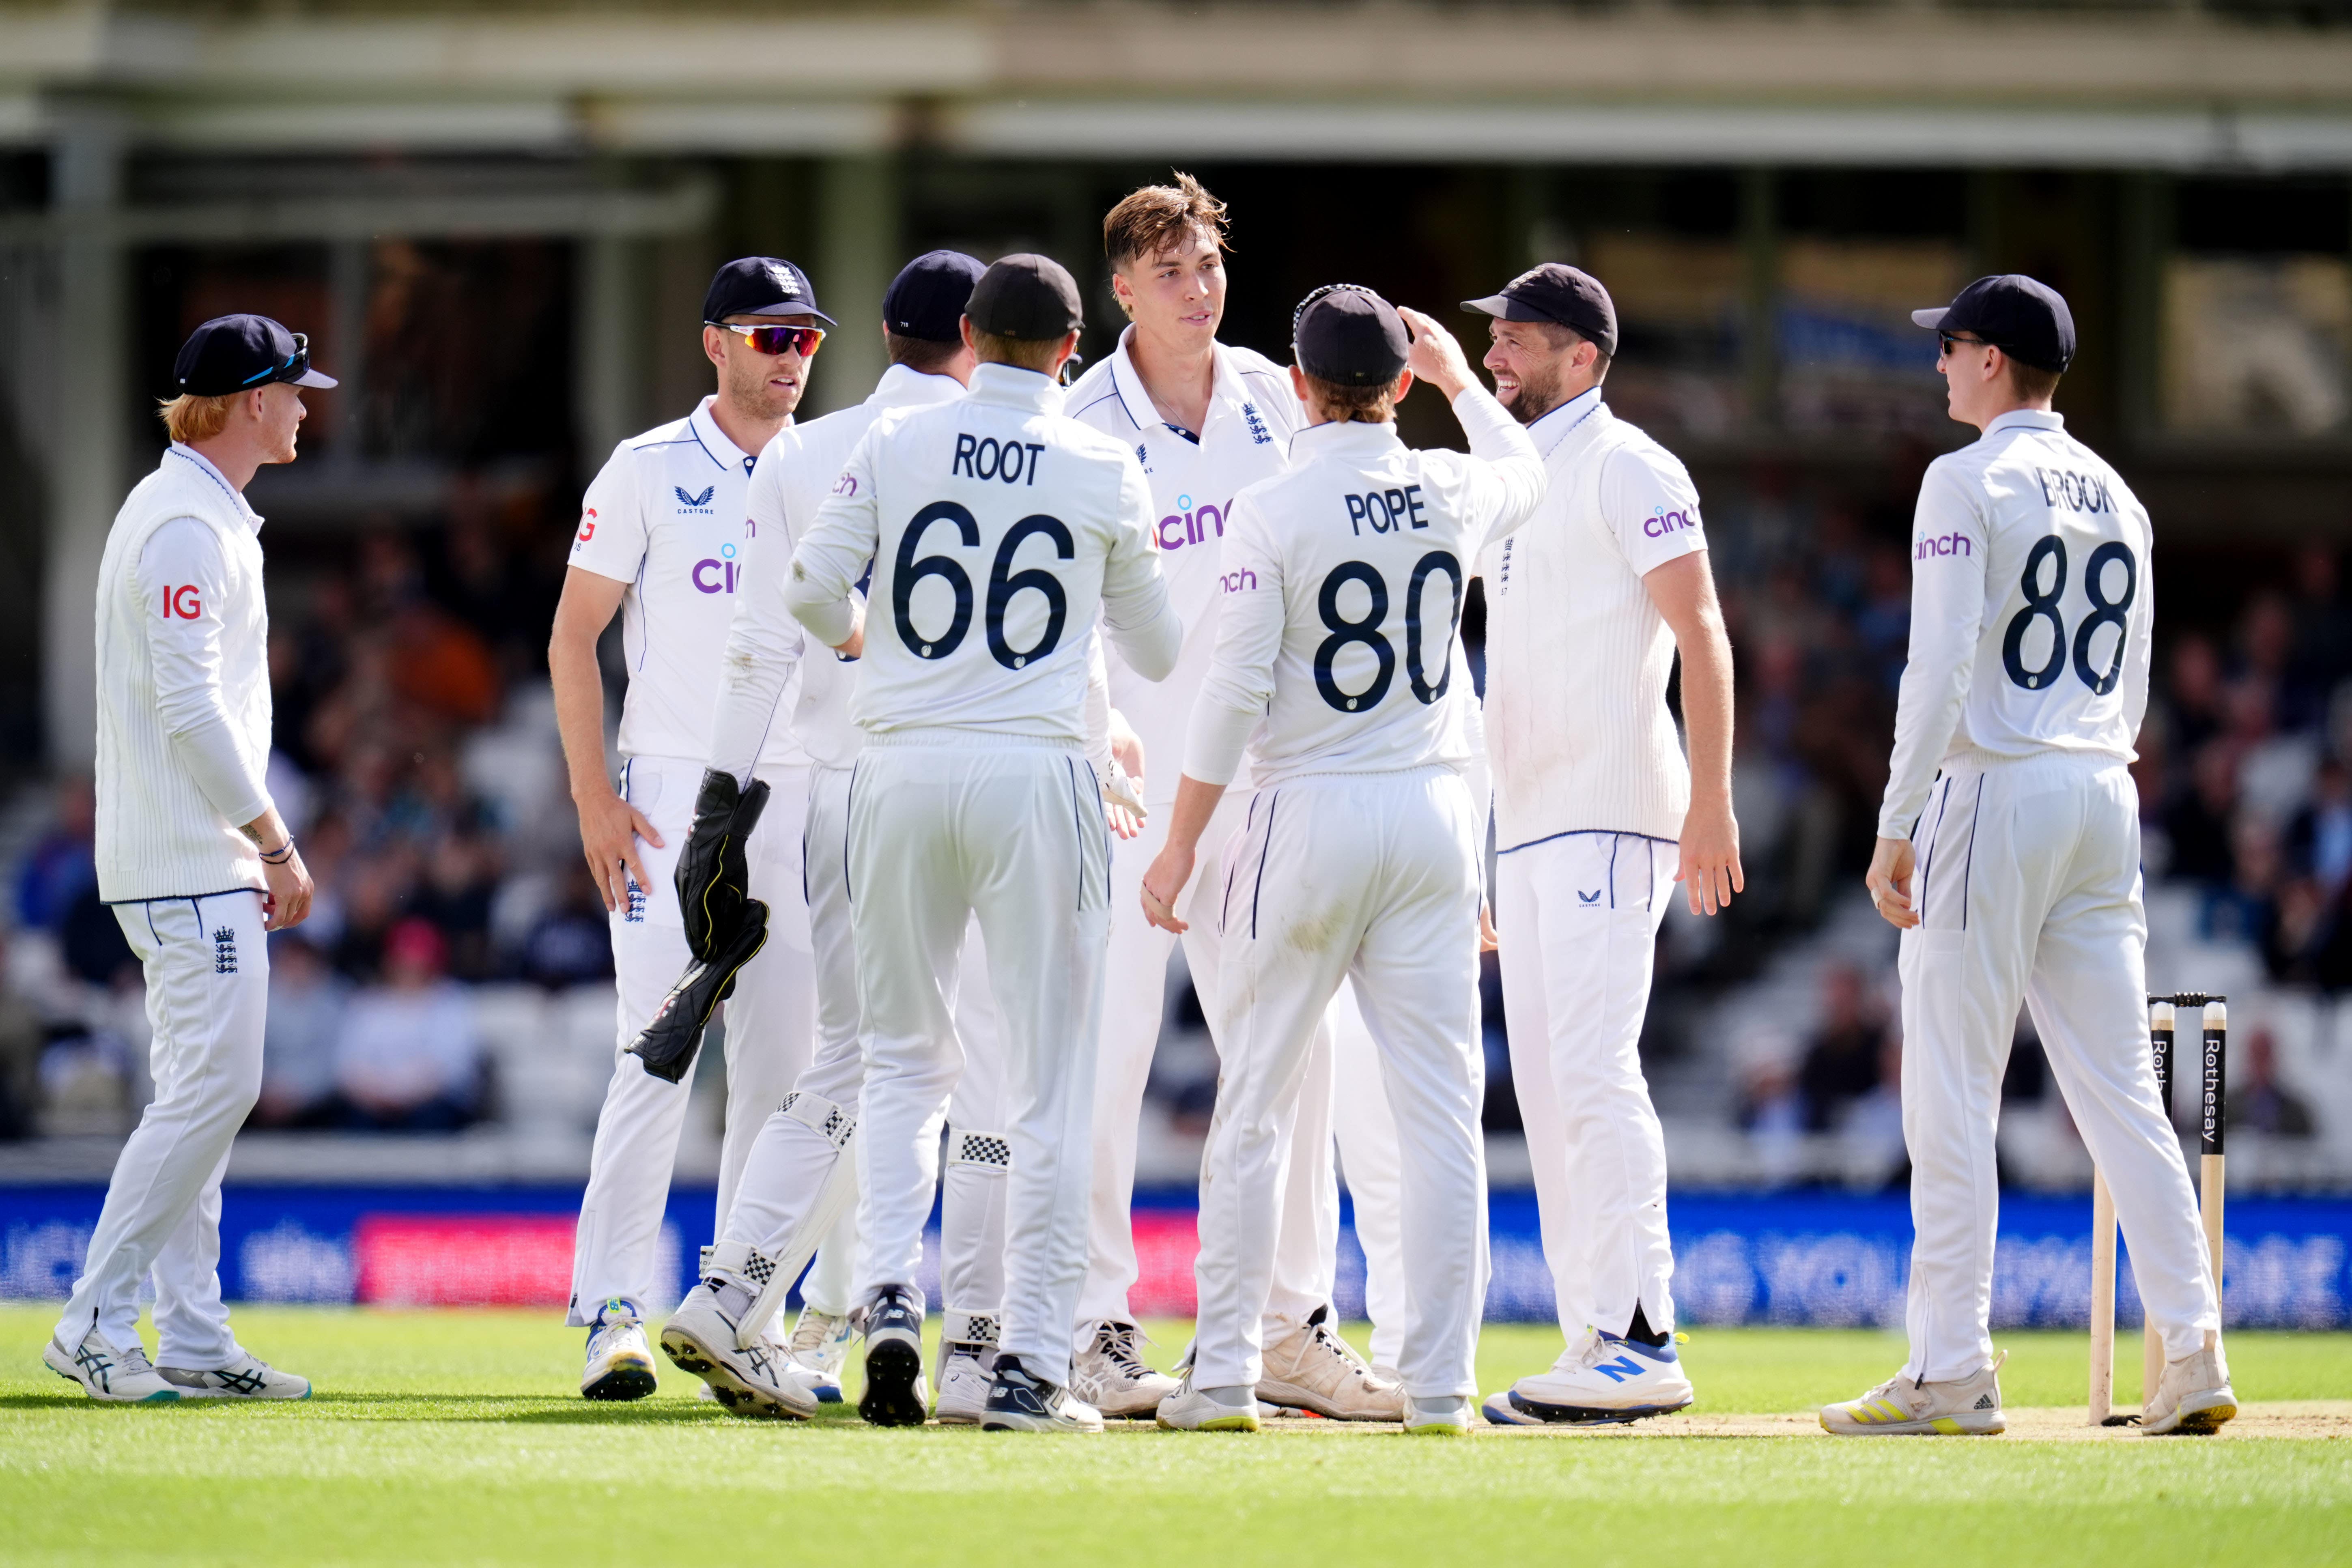
[[[1414,451],[1392,423],[1310,425],[1289,473],[1235,498],[1188,776],[1232,783],[1244,748],[1261,788],[1458,766],[1463,588],[1486,541],[1536,508],[1543,458],[1489,393],[1463,390],[1454,411],[1470,456]]]

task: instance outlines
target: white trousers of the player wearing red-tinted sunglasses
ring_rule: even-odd
[[[809,769],[762,769],[767,809],[746,844],[750,893],[767,903],[767,945],[736,976],[727,1020],[727,1131],[720,1145],[720,1192],[713,1234],[727,1225],[736,1182],[753,1138],[767,1114],[783,1103],[811,1058],[816,973],[809,952],[809,917],[800,882],[800,825],[807,816]],[[677,1135],[687,1124],[694,1074],[666,1084],[628,1056],[628,1041],[661,1009],[687,971],[684,917],[673,875],[694,827],[694,797],[703,783],[699,762],[630,757],[621,771],[621,795],[661,832],[663,846],[640,842],[644,872],[654,879],[612,914],[612,966],[619,990],[614,1011],[614,1067],[597,1112],[588,1154],[588,1192],[572,1246],[572,1309],[567,1321],[583,1328],[607,1300],[635,1302],[640,1314],[677,1305],[677,1281],[656,1279],[661,1218],[677,1166]]]

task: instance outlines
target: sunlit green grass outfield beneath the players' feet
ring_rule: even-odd
[[[2009,1436],[1830,1441],[1809,1408],[1900,1342],[1771,1328],[1693,1333],[1698,1408],[1632,1434],[1042,1439],[750,1422],[670,1371],[590,1406],[581,1335],[543,1312],[252,1307],[242,1340],[308,1403],[94,1406],[38,1361],[52,1314],[0,1309],[5,1563],[2352,1561],[2352,1335],[2234,1335],[2249,1406],[2220,1439],[2084,1436],[2084,1338],[2016,1333]],[[1155,1331],[1174,1359],[1183,1326]],[[1489,1328],[1482,1385],[1555,1352]]]

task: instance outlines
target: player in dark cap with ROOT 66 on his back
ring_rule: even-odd
[[[1134,454],[1065,418],[1077,284],[1007,256],[971,292],[971,393],[889,414],[793,555],[788,602],[861,651],[849,893],[866,1009],[858,1145],[866,1396],[920,1422],[922,1222],[960,1046],[943,976],[978,914],[1004,1034],[1004,1314],[983,1427],[1101,1429],[1068,1394],[1087,1262],[1087,1173],[1110,844],[1082,748],[1096,616],[1164,677],[1181,625]],[[873,614],[851,585],[873,562]]]

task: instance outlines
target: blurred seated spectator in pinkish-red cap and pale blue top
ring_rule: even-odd
[[[336,1088],[350,1124],[437,1133],[466,1126],[482,1105],[482,1037],[473,994],[442,969],[449,947],[421,919],[383,940],[383,985],[350,1001],[336,1048]]]

